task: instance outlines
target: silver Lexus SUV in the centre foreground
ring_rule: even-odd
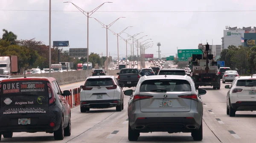
[[[137,87],[126,90],[128,103],[128,140],[136,141],[140,132],[191,132],[193,140],[203,139],[203,104],[191,77],[143,76]]]

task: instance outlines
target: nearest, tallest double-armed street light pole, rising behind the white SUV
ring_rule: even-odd
[[[72,2],[63,2],[63,3],[72,3]],[[113,3],[113,2],[105,2],[105,3]],[[90,12],[86,12],[83,9],[76,6],[74,3],[72,3],[79,11],[81,11],[82,14],[84,14],[87,17],[87,75],[89,75],[89,17],[97,11],[101,6],[103,6],[105,3],[102,3],[98,7],[94,8]],[[108,53],[108,52],[107,52]]]

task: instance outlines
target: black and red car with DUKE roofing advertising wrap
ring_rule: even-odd
[[[24,77],[0,82],[0,134],[13,132],[53,133],[55,140],[71,135],[71,112],[56,79]],[[1,139],[0,135],[0,139]]]

